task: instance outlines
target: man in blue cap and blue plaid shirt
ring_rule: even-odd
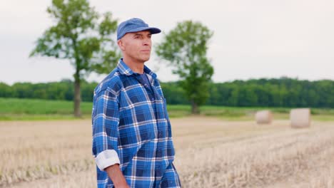
[[[92,127],[98,187],[181,187],[166,100],[144,66],[159,28],[129,19],[117,28],[123,58],[94,90]]]

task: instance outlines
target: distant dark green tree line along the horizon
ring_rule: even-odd
[[[82,81],[81,99],[93,100],[98,83]],[[161,83],[170,105],[191,105],[181,81]],[[51,83],[0,83],[1,98],[38,98],[46,100],[74,100],[74,83],[61,80]],[[272,78],[234,80],[209,83],[206,105],[238,107],[313,107],[334,108],[334,80],[298,80]]]

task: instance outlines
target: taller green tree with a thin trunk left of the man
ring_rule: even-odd
[[[79,117],[81,80],[92,71],[110,71],[120,57],[116,41],[111,39],[117,21],[112,19],[110,12],[99,15],[87,0],[53,0],[47,12],[55,24],[38,38],[30,56],[49,56],[71,62],[76,70],[74,115]]]

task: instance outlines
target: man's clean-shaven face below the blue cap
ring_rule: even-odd
[[[118,46],[123,51],[123,56],[131,61],[144,63],[151,56],[151,32],[138,31],[126,33],[119,41]]]

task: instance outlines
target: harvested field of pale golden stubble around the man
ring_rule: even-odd
[[[183,187],[334,187],[334,122],[172,119]],[[0,122],[0,187],[96,187],[90,120]]]

